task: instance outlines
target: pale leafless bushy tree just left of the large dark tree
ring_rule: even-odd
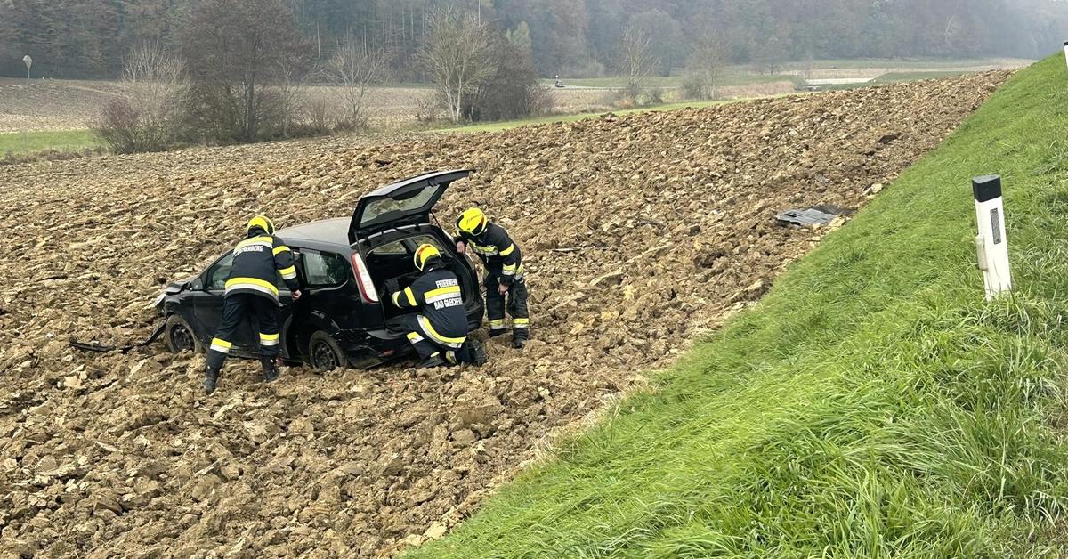
[[[164,150],[182,127],[188,93],[182,61],[159,43],[143,43],[126,57],[122,95],[101,107],[95,129],[113,152]]]

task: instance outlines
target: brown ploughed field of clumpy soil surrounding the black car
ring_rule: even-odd
[[[351,557],[440,537],[688,340],[757,299],[1007,73],[492,135],[331,139],[0,168],[0,550],[42,557]],[[440,205],[485,207],[523,248],[534,341],[482,369],[271,385],[134,341],[144,305],[241,235],[349,215],[364,192],[470,167]],[[848,227],[848,224],[846,226]]]

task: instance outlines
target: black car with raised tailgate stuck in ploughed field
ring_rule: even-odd
[[[362,197],[351,218],[326,219],[282,229],[276,235],[294,251],[303,296],[293,301],[281,278],[281,355],[289,363],[317,370],[366,368],[411,352],[399,328],[400,310],[389,302],[383,284],[400,288],[419,276],[412,255],[428,243],[456,274],[472,330],[482,325],[484,302],[471,263],[452,238],[431,223],[434,204],[455,181],[471,171],[445,171],[383,186]],[[226,252],[200,275],[170,283],[156,300],[167,317],[171,351],[203,352],[222,317],[223,284],[233,264]],[[258,357],[251,325],[234,340],[231,355]]]

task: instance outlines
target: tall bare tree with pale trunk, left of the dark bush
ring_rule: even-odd
[[[429,18],[420,62],[453,122],[462,120],[467,97],[497,72],[492,38],[489,26],[474,14],[446,10]]]

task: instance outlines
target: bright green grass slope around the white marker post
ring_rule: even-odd
[[[1068,72],[1020,72],[657,389],[410,557],[1034,557],[1068,504]],[[969,180],[1006,184],[983,299]]]

